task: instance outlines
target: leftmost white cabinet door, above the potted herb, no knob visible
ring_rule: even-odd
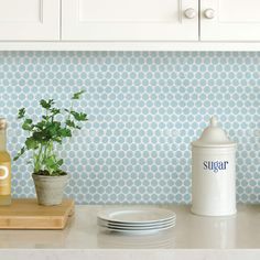
[[[59,0],[0,0],[0,41],[59,39]]]

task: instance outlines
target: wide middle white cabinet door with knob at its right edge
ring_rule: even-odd
[[[196,41],[197,10],[198,0],[62,0],[62,39]]]

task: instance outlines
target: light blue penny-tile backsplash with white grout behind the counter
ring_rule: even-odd
[[[189,143],[213,115],[238,142],[238,202],[260,202],[259,52],[1,52],[11,154],[25,138],[19,108],[36,118],[41,98],[66,107],[82,88],[89,121],[59,151],[78,204],[189,203]],[[34,196],[31,171],[13,162],[15,197]]]

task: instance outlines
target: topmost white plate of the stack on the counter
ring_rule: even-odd
[[[98,218],[105,221],[118,224],[152,224],[174,219],[176,214],[163,208],[132,208],[132,209],[110,209],[98,214]]]

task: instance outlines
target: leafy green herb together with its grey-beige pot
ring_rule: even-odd
[[[82,122],[88,120],[86,113],[75,111],[73,106],[83,94],[84,90],[73,95],[69,109],[56,108],[53,99],[42,99],[43,115],[37,122],[26,116],[25,108],[19,110],[18,119],[22,120],[22,129],[29,136],[14,161],[30,152],[29,163],[33,165],[32,177],[40,205],[58,205],[63,201],[68,175],[62,170],[63,159],[56,150],[65,139],[72,138],[73,130],[80,129]]]

